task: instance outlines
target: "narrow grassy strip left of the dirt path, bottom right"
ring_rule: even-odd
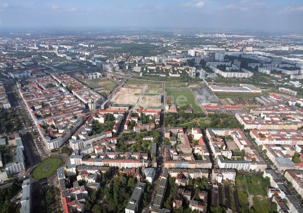
[[[243,212],[243,210],[248,209],[248,194],[245,188],[244,176],[237,175],[235,182],[236,182],[240,212]]]

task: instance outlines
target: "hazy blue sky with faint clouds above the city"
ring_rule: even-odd
[[[0,29],[56,27],[303,33],[303,0],[0,0]]]

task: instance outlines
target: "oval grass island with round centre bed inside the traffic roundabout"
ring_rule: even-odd
[[[49,178],[57,171],[61,163],[62,160],[60,158],[51,157],[45,159],[32,172],[32,179],[38,181],[43,178]]]

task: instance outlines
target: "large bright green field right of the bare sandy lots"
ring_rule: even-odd
[[[202,112],[201,108],[196,105],[195,97],[190,89],[187,88],[168,88],[165,89],[165,98],[171,98],[174,100],[176,106],[190,105],[194,112]]]

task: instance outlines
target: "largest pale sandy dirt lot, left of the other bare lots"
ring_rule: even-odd
[[[142,88],[127,87],[121,88],[113,97],[112,103],[115,104],[131,104],[137,103],[138,98],[142,92]]]

